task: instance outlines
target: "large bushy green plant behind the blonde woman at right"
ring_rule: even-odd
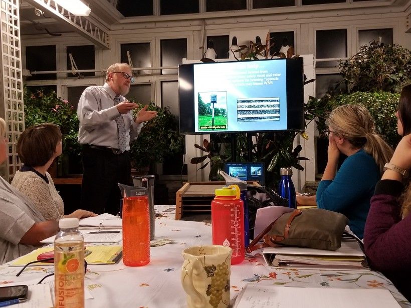
[[[361,46],[357,54],[339,64],[342,81],[349,93],[330,95],[325,102],[326,113],[344,104],[360,104],[373,116],[376,131],[395,148],[399,141],[396,132],[399,93],[411,83],[411,51],[397,44],[385,45],[376,41]],[[318,130],[324,133],[324,119]]]

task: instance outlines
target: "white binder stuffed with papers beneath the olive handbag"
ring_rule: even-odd
[[[300,269],[369,270],[358,243],[344,240],[335,251],[302,247],[264,248],[263,256],[269,266]]]

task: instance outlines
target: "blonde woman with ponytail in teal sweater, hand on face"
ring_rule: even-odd
[[[301,205],[344,214],[350,230],[363,237],[370,199],[392,149],[375,133],[368,110],[343,105],[328,117],[328,161],[315,196],[298,196]],[[337,172],[340,153],[348,156]]]

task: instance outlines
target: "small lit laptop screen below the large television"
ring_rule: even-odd
[[[239,180],[259,181],[260,185],[265,184],[264,163],[225,163],[224,171]]]

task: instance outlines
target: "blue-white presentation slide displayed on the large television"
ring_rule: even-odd
[[[287,129],[285,61],[194,65],[195,132]]]

